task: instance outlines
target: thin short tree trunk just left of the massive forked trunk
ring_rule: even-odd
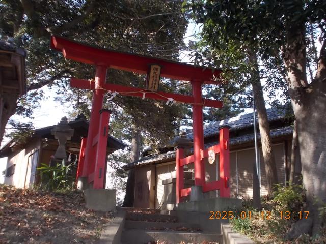
[[[292,137],[292,148],[291,148],[291,171],[290,171],[290,185],[301,184],[301,162],[300,162],[300,149],[299,141],[297,136],[297,123],[294,121],[293,126],[293,137]]]

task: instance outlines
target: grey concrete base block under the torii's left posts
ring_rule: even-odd
[[[94,211],[113,211],[116,209],[116,189],[93,189],[84,191],[86,207]]]

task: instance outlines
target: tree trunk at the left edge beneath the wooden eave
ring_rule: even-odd
[[[9,118],[16,112],[18,94],[2,93],[0,96],[0,144]]]

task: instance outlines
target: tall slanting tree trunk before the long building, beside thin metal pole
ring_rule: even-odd
[[[261,140],[261,148],[263,151],[263,159],[265,164],[266,180],[268,196],[273,196],[274,184],[278,183],[275,159],[271,148],[271,138],[269,134],[269,123],[263,96],[263,88],[260,83],[259,67],[257,63],[256,53],[248,51],[249,62],[254,69],[251,72],[252,86],[255,97],[255,105],[258,115],[259,133]]]

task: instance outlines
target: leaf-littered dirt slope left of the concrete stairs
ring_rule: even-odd
[[[0,185],[0,243],[95,243],[112,219],[86,209],[81,193]]]

